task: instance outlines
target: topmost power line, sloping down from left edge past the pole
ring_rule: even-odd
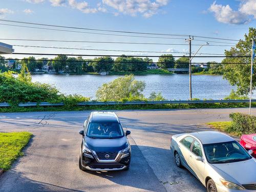
[[[105,30],[105,29],[92,29],[92,28],[82,28],[82,27],[70,27],[70,26],[60,26],[60,25],[49,25],[49,24],[40,24],[40,23],[30,23],[30,22],[19,22],[16,20],[7,20],[0,19],[2,22],[11,22],[19,24],[29,24],[29,25],[39,25],[39,26],[48,26],[48,27],[58,27],[58,28],[69,28],[69,29],[82,29],[82,30],[92,30],[92,31],[105,31],[105,32],[117,32],[117,33],[134,33],[134,34],[146,34],[146,35],[162,35],[162,36],[182,36],[187,37],[189,34],[166,34],[166,33],[145,33],[145,32],[135,32],[135,31],[119,31],[119,30]],[[221,40],[232,40],[239,41],[237,39],[227,39],[227,38],[217,38],[217,37],[206,37],[206,36],[197,36],[191,35],[199,38],[210,38],[210,39],[221,39]]]

